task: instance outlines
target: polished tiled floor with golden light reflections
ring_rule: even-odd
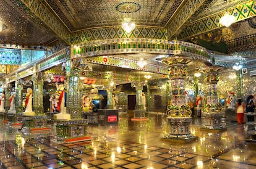
[[[253,125],[226,121],[227,131],[190,131],[198,140],[161,141],[169,127],[162,115],[148,122],[121,117],[116,126],[88,125],[92,141],[60,144],[48,133],[22,134],[8,126],[0,132],[0,168],[256,168],[256,143],[245,142]]]

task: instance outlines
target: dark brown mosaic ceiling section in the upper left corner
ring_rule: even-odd
[[[0,32],[1,47],[8,44],[6,47],[16,49],[19,46],[32,48],[34,44],[41,46],[58,38],[30,10],[24,8],[22,3],[15,0],[0,2],[0,20],[7,26]]]

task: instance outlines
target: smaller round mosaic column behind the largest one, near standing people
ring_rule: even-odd
[[[204,68],[205,82],[208,86],[207,104],[202,110],[202,128],[208,130],[222,130],[224,128],[221,118],[224,112],[218,99],[217,83],[220,67],[210,66]]]

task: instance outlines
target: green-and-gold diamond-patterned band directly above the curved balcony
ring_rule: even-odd
[[[167,39],[166,29],[155,27],[136,27],[127,34],[121,27],[105,27],[90,30],[77,31],[70,36],[70,43],[77,44],[85,41],[96,41],[116,38],[152,38]]]

